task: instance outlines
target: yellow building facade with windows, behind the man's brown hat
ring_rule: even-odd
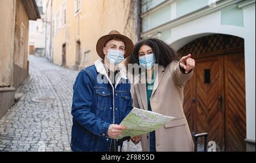
[[[52,42],[46,43],[49,60],[71,69],[82,69],[91,65],[98,58],[97,40],[112,30],[117,30],[136,41],[135,2],[48,1],[47,6],[51,8],[46,8],[46,17],[47,23],[51,22],[49,24],[52,32]],[[51,15],[51,18],[48,18],[48,15]],[[49,28],[47,27],[47,32]]]

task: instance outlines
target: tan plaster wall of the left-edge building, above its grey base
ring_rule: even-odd
[[[24,25],[24,57],[23,65],[20,56],[20,32]],[[28,71],[28,15],[22,0],[0,1],[0,87],[14,86],[15,81],[22,82]],[[15,65],[16,69],[15,69]],[[18,70],[17,70],[18,68]],[[16,70],[16,71],[15,71]],[[22,77],[23,76],[23,77]],[[17,83],[17,82],[16,82]]]

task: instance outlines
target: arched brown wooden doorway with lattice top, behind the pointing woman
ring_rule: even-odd
[[[244,41],[210,35],[178,51],[191,53],[195,74],[184,88],[184,112],[191,132],[208,132],[217,151],[246,151]]]

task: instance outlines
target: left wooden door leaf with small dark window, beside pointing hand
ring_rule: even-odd
[[[223,58],[212,56],[196,62],[195,129],[208,132],[216,151],[224,149]]]

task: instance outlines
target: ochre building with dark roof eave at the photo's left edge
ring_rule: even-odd
[[[34,0],[0,1],[0,117],[28,76],[28,21],[40,18]]]

